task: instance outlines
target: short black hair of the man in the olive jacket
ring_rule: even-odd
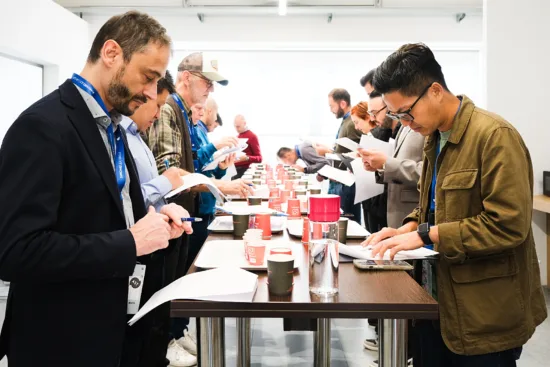
[[[382,94],[399,91],[413,97],[434,82],[449,90],[432,50],[423,43],[412,43],[401,46],[376,68],[373,87]]]

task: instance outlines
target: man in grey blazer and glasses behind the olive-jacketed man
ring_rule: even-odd
[[[378,183],[388,184],[387,223],[397,228],[403,219],[418,205],[418,179],[422,172],[424,137],[402,126],[399,119],[387,114],[382,95],[374,90],[370,94],[369,116],[381,127],[391,127],[395,149],[392,156],[379,150],[360,150],[367,171],[376,172]]]

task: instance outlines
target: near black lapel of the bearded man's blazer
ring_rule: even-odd
[[[61,101],[68,107],[67,115],[69,120],[78,132],[105,186],[109,189],[120,215],[124,219],[124,211],[122,209],[122,201],[120,200],[113,164],[97,128],[96,121],[90,113],[86,102],[84,102],[82,96],[70,80],[67,80],[59,87],[59,93],[61,94]]]

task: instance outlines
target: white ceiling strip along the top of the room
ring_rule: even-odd
[[[169,14],[277,14],[277,0],[54,0],[78,13],[137,9]],[[483,0],[288,0],[288,15],[481,14]]]

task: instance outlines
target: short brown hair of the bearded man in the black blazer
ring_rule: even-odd
[[[108,40],[120,45],[126,62],[151,42],[160,46],[170,46],[172,43],[166,29],[156,19],[137,11],[111,17],[101,27],[92,42],[88,62],[94,63],[99,59],[101,49]]]

